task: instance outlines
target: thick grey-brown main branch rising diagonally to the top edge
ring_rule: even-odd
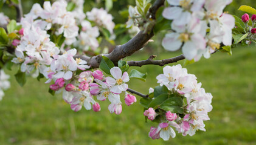
[[[151,19],[155,19],[156,11],[159,7],[164,5],[165,0],[156,0],[152,7],[150,8],[150,15]],[[140,31],[133,39],[129,40],[127,43],[123,45],[116,46],[116,48],[109,54],[104,54],[104,56],[108,57],[109,59],[117,64],[120,59],[123,59],[126,56],[131,56],[131,54],[135,53],[136,51],[140,50],[144,47],[145,43],[154,36],[153,33],[154,28],[154,21],[151,21],[151,25],[148,25],[145,30]],[[79,56],[76,56],[79,57]],[[83,57],[80,57],[83,59]],[[92,68],[99,68],[100,61],[102,60],[102,54],[94,57],[85,57],[85,60],[88,62]]]

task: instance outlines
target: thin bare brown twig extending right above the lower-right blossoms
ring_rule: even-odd
[[[163,60],[153,60],[155,56],[150,56],[147,60],[141,61],[128,61],[129,66],[142,66],[142,65],[159,65],[164,66],[168,63],[178,62],[179,60],[185,59],[184,55],[176,56],[170,59],[163,59]]]

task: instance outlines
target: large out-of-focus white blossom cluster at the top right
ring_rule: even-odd
[[[165,8],[162,15],[172,20],[173,31],[165,35],[162,46],[169,51],[181,48],[186,59],[198,61],[202,55],[209,58],[220,49],[220,43],[231,45],[235,19],[223,13],[230,2],[232,0],[168,0],[170,7]]]

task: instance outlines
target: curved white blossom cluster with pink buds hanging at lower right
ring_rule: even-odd
[[[163,140],[168,140],[170,136],[174,138],[176,134],[173,127],[184,136],[192,136],[196,130],[206,131],[204,121],[210,120],[207,113],[212,111],[212,94],[201,88],[201,83],[197,82],[195,75],[188,74],[187,69],[181,65],[165,66],[164,74],[159,74],[156,79],[161,86],[166,86],[172,94],[178,94],[186,101],[182,106],[183,114],[170,111],[157,114],[153,108],[145,111],[144,115],[150,120],[162,115],[161,123],[157,127],[151,127],[149,136],[153,139],[161,137]]]

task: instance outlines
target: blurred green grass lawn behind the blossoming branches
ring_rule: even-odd
[[[178,54],[162,52],[157,59]],[[147,58],[142,51],[128,60]],[[239,47],[232,57],[216,53],[186,66],[202,87],[212,92],[213,111],[209,113],[211,120],[205,121],[206,132],[199,131],[193,137],[177,134],[170,141],[148,137],[150,126],[157,124],[145,123],[138,102],[129,107],[123,103],[120,115],[109,114],[108,101],[100,102],[100,112],[73,112],[61,95],[47,92],[49,85],[44,80],[29,78],[21,88],[13,77],[17,70],[6,71],[12,87],[0,102],[0,144],[256,144],[255,62],[255,47]],[[148,72],[147,82],[131,80],[130,88],[147,94],[149,87],[157,85],[155,78],[162,67],[136,69]]]

